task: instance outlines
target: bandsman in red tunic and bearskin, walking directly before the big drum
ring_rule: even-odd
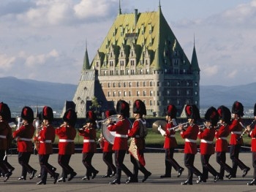
[[[133,180],[132,172],[124,165],[124,156],[127,152],[127,134],[130,128],[129,123],[129,104],[127,101],[119,100],[116,104],[116,113],[118,114],[118,122],[115,124],[110,119],[107,120],[109,124],[109,131],[116,131],[113,150],[115,151],[116,162],[116,179],[110,182],[111,185],[121,183],[121,171],[127,174],[128,180]]]

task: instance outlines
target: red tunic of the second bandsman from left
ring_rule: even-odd
[[[17,138],[18,152],[32,152],[32,137],[34,135],[34,126],[32,123],[22,125],[12,134],[13,138]]]

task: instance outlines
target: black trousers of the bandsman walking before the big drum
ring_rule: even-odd
[[[116,163],[116,180],[121,180],[121,171],[127,177],[132,177],[132,172],[129,171],[127,166],[124,165],[124,156],[127,150],[115,150],[115,163]]]

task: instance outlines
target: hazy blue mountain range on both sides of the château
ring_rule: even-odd
[[[48,105],[62,111],[65,101],[72,100],[78,85],[23,80],[15,77],[0,78],[0,101],[7,103],[11,111],[20,112],[24,106]],[[200,85],[200,108],[207,109],[225,105],[231,107],[240,101],[244,107],[253,109],[256,101],[256,82],[247,85]]]

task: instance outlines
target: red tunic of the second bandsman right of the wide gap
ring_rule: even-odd
[[[181,137],[185,139],[184,153],[196,154],[197,153],[197,134],[199,127],[194,124],[189,126],[186,131],[181,131]]]

